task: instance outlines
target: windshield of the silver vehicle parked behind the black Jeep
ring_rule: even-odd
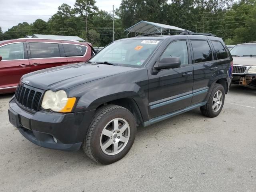
[[[256,44],[236,45],[230,50],[232,56],[249,57],[256,56]]]

